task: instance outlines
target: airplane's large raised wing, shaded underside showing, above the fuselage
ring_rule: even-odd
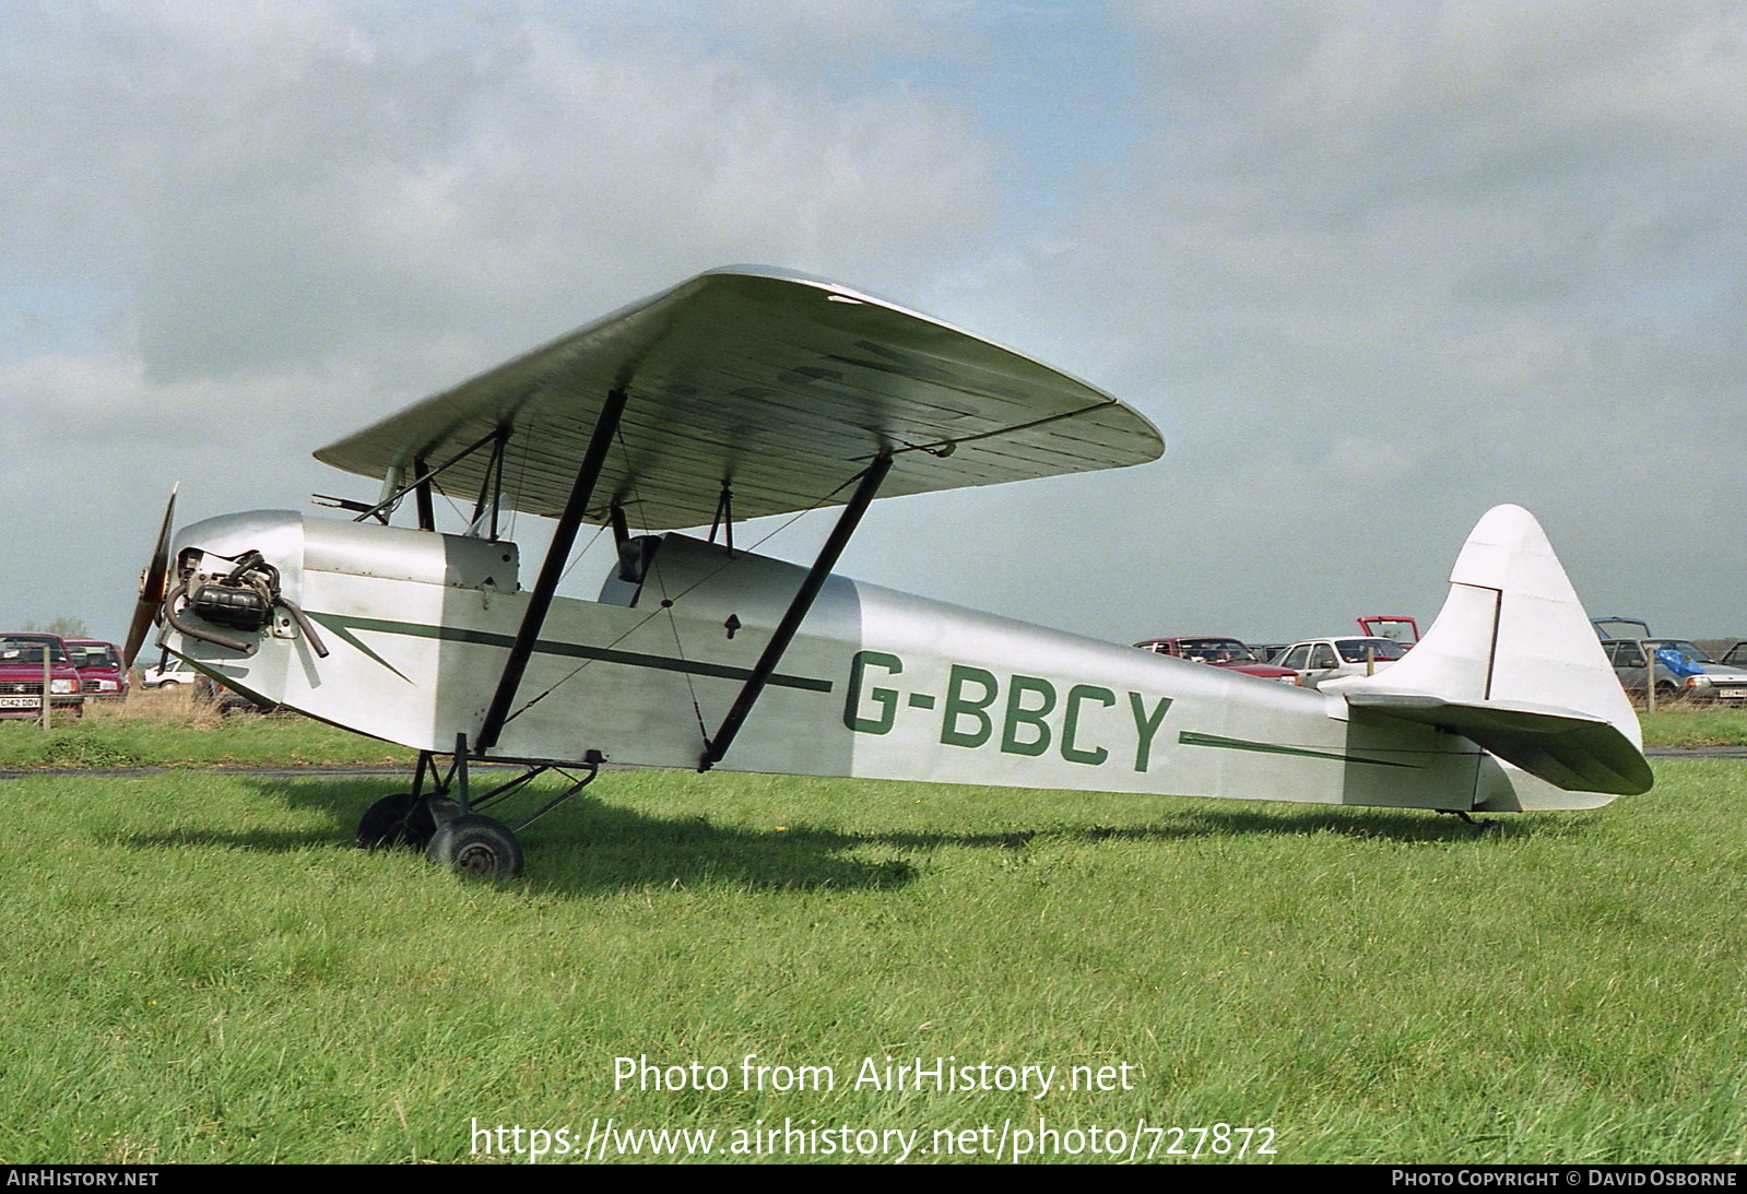
[[[1158,431],[1109,395],[928,316],[821,279],[699,274],[316,452],[353,473],[440,463],[507,429],[503,506],[556,517],[601,401],[629,395],[589,518],[646,527],[846,496],[882,450],[882,496],[1157,459]],[[442,477],[472,498],[486,452]]]

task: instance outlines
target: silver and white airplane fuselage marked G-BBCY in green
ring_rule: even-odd
[[[248,653],[166,630],[227,684],[358,733],[477,740],[528,606],[510,543],[257,511],[178,536],[183,573],[246,552],[318,627]],[[804,569],[678,534],[641,583],[559,597],[489,756],[697,768]],[[926,600],[819,592],[718,770],[1403,808],[1593,806],[1436,726],[1331,693]]]

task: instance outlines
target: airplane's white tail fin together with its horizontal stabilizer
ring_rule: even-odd
[[[1467,536],[1450,597],[1406,658],[1326,688],[1356,714],[1450,730],[1564,791],[1635,794],[1653,782],[1637,714],[1520,506],[1495,506]]]

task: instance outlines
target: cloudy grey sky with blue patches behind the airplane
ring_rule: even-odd
[[[7,0],[0,180],[5,628],[121,639],[173,484],[374,499],[311,452],[753,262],[1167,442],[875,503],[851,576],[1286,641],[1518,503],[1592,614],[1747,637],[1742,3]]]

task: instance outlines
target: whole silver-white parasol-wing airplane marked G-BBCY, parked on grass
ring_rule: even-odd
[[[1321,691],[832,574],[875,496],[1162,450],[1109,395],[959,328],[713,271],[316,452],[383,478],[341,503],[351,522],[239,513],[171,543],[166,511],[129,660],[155,621],[238,691],[416,749],[360,841],[491,875],[521,847],[479,806],[557,770],[540,815],[608,761],[1462,815],[1649,789],[1626,696],[1515,506],[1480,520],[1412,655]],[[435,531],[435,492],[472,501],[465,534]],[[416,525],[388,525],[407,498]],[[842,513],[811,566],[734,546],[735,520],[818,506]],[[531,585],[510,510],[557,520]],[[583,522],[613,529],[618,567],[557,597]],[[477,761],[522,770],[475,793]]]

